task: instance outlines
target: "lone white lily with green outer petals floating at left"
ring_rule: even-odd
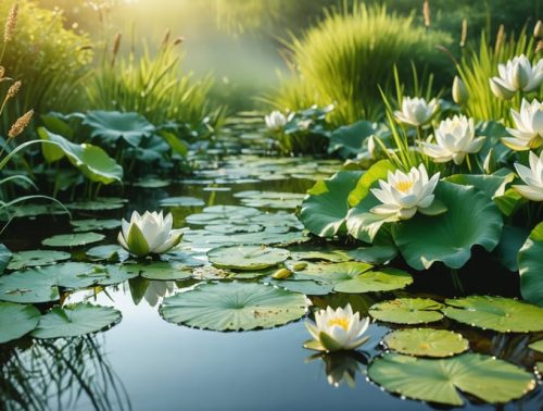
[[[129,223],[123,219],[117,240],[125,250],[138,257],[162,254],[181,241],[182,233],[172,229],[172,213],[164,217],[162,211],[146,211],[143,215],[135,211]]]

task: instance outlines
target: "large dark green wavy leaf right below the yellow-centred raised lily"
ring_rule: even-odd
[[[435,196],[447,207],[437,216],[418,213],[395,225],[395,241],[405,261],[427,270],[435,261],[462,267],[473,246],[492,251],[498,244],[503,220],[492,200],[475,187],[441,182]]]

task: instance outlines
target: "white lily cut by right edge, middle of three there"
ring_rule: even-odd
[[[522,99],[520,111],[512,110],[515,128],[507,128],[513,137],[502,138],[512,150],[529,150],[543,146],[543,103]]]

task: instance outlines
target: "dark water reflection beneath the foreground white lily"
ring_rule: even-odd
[[[362,374],[362,365],[367,365],[369,354],[362,351],[338,351],[328,353],[316,353],[305,359],[305,362],[323,360],[328,384],[339,387],[343,383],[350,388],[356,387],[356,374]]]

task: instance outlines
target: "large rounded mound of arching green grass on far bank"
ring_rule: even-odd
[[[449,35],[427,32],[415,25],[413,15],[402,17],[384,7],[345,4],[329,9],[320,23],[286,42],[294,73],[267,97],[275,108],[333,103],[330,121],[336,125],[378,120],[382,116],[379,87],[393,90],[394,65],[401,78],[409,77],[411,62],[421,73],[453,71],[447,57],[435,49],[451,43]]]

